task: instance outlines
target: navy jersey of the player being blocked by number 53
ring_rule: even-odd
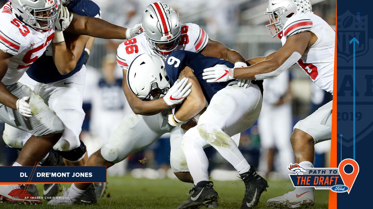
[[[73,0],[67,6],[69,12],[88,17],[101,17],[100,7],[90,0]],[[34,64],[26,71],[28,76],[35,81],[41,83],[50,83],[68,78],[78,72],[84,64],[84,50],[76,63],[73,71],[66,75],[61,75],[52,58],[51,45],[48,46],[46,52],[39,57]]]

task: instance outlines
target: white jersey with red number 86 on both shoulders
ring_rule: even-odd
[[[194,23],[186,23],[181,25],[181,41],[175,50],[185,50],[191,52],[201,52],[207,45],[209,36]],[[157,55],[150,49],[145,34],[135,36],[128,41],[123,42],[117,49],[117,64],[121,68],[127,69],[132,61],[140,54]]]

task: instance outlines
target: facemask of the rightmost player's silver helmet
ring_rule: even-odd
[[[269,12],[268,9],[267,9],[267,11],[264,13],[265,15],[268,15],[269,24],[266,25],[266,28],[267,28],[269,34],[272,36],[272,38],[277,36],[283,30],[283,26],[285,25],[286,20],[288,19],[288,17],[285,17],[285,18],[282,17],[283,14],[285,13],[285,11],[286,11],[286,9],[284,7],[279,7],[277,9],[274,9],[271,12]],[[273,32],[270,28],[271,25],[273,25],[275,27],[275,30],[276,30],[275,34],[273,34]]]

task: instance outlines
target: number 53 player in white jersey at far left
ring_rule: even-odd
[[[0,119],[31,135],[13,165],[35,166],[61,137],[62,121],[28,86],[18,82],[52,41],[59,2],[11,0],[0,10]],[[40,204],[18,185],[1,185],[3,202]]]

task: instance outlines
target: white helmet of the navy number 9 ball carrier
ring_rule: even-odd
[[[142,100],[164,96],[170,88],[162,58],[150,54],[137,56],[127,70],[132,93]]]

